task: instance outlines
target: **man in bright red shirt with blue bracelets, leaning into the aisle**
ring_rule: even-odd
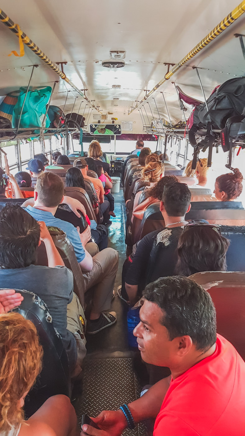
[[[117,411],[101,412],[84,425],[92,436],[119,436],[154,418],[153,436],[244,436],[245,362],[216,335],[211,296],[185,277],[164,277],[144,291],[134,329],[142,359],[167,366],[171,376]]]

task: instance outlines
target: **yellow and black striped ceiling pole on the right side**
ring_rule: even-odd
[[[181,59],[178,64],[175,64],[175,66],[169,71],[167,74],[165,74],[164,78],[160,80],[160,82],[157,83],[157,85],[154,86],[154,88],[149,91],[144,98],[137,103],[136,106],[134,106],[133,109],[129,112],[133,112],[134,109],[138,108],[138,106],[141,105],[141,103],[144,103],[145,100],[150,97],[151,94],[153,94],[154,91],[156,91],[164,82],[166,82],[173,74],[175,74],[183,65],[186,64],[191,58],[193,58],[199,51],[201,51],[203,48],[205,48],[208,44],[210,44],[211,41],[213,41],[219,34],[221,34],[227,27],[229,27],[232,23],[234,23],[235,20],[237,20],[241,15],[245,12],[245,0],[242,1],[236,7],[230,14],[227,15],[227,17],[224,18],[211,32],[209,32],[208,35],[205,36],[198,44],[191,50],[189,53]],[[129,115],[128,114],[128,115]]]

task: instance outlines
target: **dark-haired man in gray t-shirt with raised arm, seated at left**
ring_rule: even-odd
[[[46,248],[48,266],[34,265],[40,241]],[[38,223],[20,206],[5,206],[0,212],[0,287],[34,292],[44,300],[72,371],[77,345],[67,330],[67,304],[73,298],[73,274],[64,266],[44,222]]]

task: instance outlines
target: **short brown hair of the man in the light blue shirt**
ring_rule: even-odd
[[[64,183],[57,174],[44,171],[37,177],[36,191],[38,200],[46,208],[54,208],[64,195]]]

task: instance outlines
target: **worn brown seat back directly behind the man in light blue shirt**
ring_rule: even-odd
[[[48,231],[52,236],[54,245],[60,253],[65,266],[73,273],[74,293],[77,294],[79,301],[84,307],[84,278],[81,268],[77,262],[77,258],[66,234],[57,227],[48,226]],[[48,266],[47,253],[44,242],[41,242],[36,250],[36,265]]]

